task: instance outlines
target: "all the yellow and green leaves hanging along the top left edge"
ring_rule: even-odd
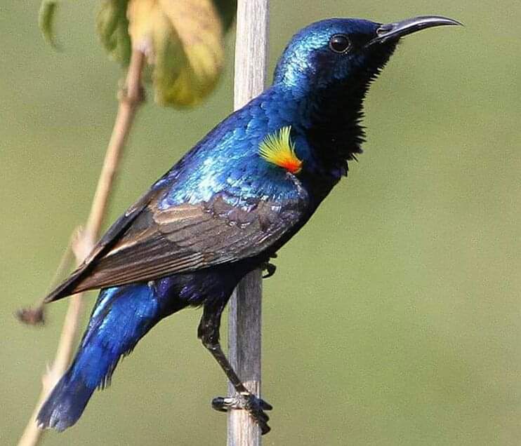
[[[44,0],[39,25],[57,48],[58,2]],[[132,50],[147,56],[158,104],[199,104],[216,86],[224,63],[223,36],[237,0],[103,0],[97,30],[110,57],[127,66]]]

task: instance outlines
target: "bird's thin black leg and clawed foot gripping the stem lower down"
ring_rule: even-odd
[[[223,349],[220,347],[220,315],[223,313],[223,309],[224,304],[209,304],[204,306],[203,316],[197,329],[197,337],[201,339],[203,345],[212,354],[213,358],[216,358],[227,378],[234,386],[235,391],[237,391],[237,396],[213,398],[211,405],[213,409],[219,412],[227,412],[227,410],[230,409],[247,410],[259,425],[260,431],[263,434],[268,433],[270,431],[270,426],[268,426],[270,417],[268,417],[264,411],[271,410],[272,406],[253,395],[253,393],[242,384],[242,381],[237,377],[237,373],[235,373],[235,370],[233,370],[232,365],[223,353]]]

